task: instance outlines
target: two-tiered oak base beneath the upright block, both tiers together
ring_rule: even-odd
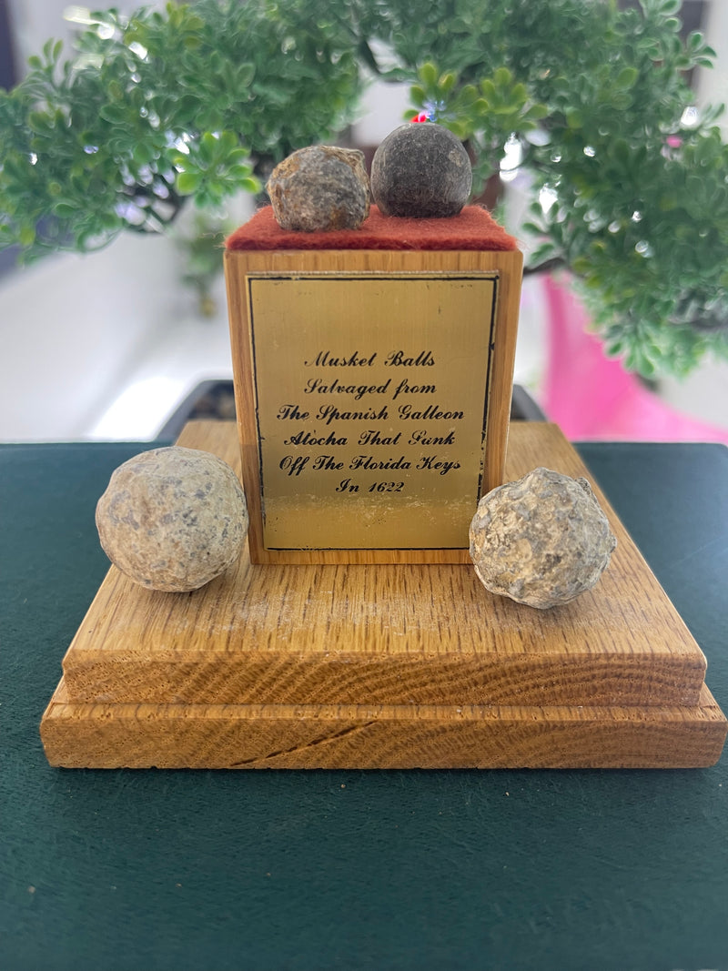
[[[235,426],[181,444],[239,468]],[[514,423],[507,478],[588,472]],[[593,480],[592,480],[593,482]],[[706,661],[604,496],[618,547],[594,590],[536,611],[472,567],[251,565],[152,592],[112,568],[41,725],[53,765],[697,767],[728,724]]]

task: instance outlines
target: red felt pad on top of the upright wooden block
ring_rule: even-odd
[[[480,206],[459,216],[405,219],[372,206],[359,229],[302,233],[281,229],[273,207],[259,210],[227,239],[228,250],[497,250],[517,249],[513,236]]]

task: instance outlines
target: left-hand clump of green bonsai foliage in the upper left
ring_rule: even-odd
[[[341,127],[358,94],[351,35],[323,0],[89,14],[0,91],[0,247],[26,256],[160,231]]]

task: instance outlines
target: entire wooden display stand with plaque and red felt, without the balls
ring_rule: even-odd
[[[337,250],[266,211],[238,232],[238,434],[193,423],[180,444],[242,477],[248,551],[192,593],[110,570],[43,718],[50,763],[714,762],[727,725],[706,659],[598,488],[618,545],[576,601],[516,604],[470,564],[468,526],[504,470],[590,478],[553,425],[516,422],[509,441],[513,239],[477,207],[375,212]]]

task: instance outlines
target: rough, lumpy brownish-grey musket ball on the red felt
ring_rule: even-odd
[[[294,151],[273,170],[266,191],[281,229],[358,229],[369,216],[369,176],[364,153],[356,149]]]

